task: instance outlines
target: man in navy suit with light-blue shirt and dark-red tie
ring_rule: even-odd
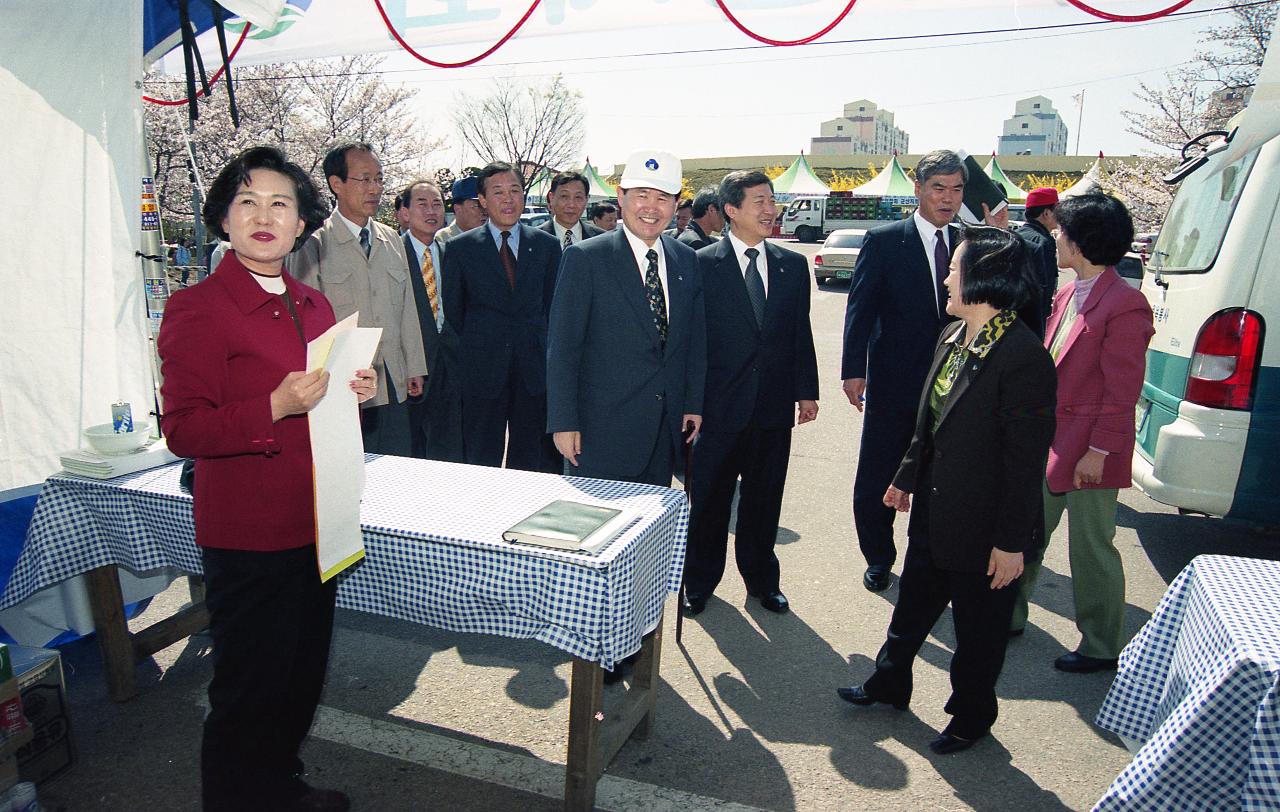
[[[561,248],[520,223],[525,188],[511,164],[476,175],[489,216],[444,243],[444,301],[458,333],[466,461],[557,471],[547,424],[547,314]],[[506,447],[506,448],[504,448]]]

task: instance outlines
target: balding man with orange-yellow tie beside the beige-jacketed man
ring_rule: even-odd
[[[431,374],[422,398],[410,401],[411,453],[424,460],[463,462],[462,393],[458,388],[458,334],[444,315],[443,264],[435,234],[444,227],[444,196],[430,181],[415,181],[398,197],[404,213],[404,256],[422,325],[422,348]]]

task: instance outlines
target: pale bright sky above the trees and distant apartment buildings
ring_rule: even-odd
[[[591,5],[593,0],[571,0]],[[621,3],[622,0],[607,0]],[[673,3],[677,0],[672,0]],[[692,0],[685,0],[692,1]],[[748,19],[753,3],[735,0]],[[1106,10],[1134,14],[1169,0],[1094,0]],[[515,3],[515,5],[522,5]],[[632,0],[639,5],[639,0]],[[774,38],[812,33],[842,0],[794,0],[790,14],[758,13],[760,32]],[[1221,1],[1197,0],[1185,10]],[[1068,123],[1069,152],[1134,154],[1148,147],[1125,132],[1120,115],[1137,106],[1138,82],[1189,60],[1203,29],[1225,14],[1152,23],[1106,24],[1071,31],[1021,31],[934,40],[824,44],[701,54],[695,49],[753,46],[727,20],[664,24],[663,3],[648,6],[603,33],[516,37],[474,68],[424,68],[403,54],[388,58],[388,81],[419,90],[419,111],[435,136],[449,137],[448,111],[457,93],[483,93],[494,77],[539,79],[562,73],[584,95],[585,154],[612,166],[634,149],[668,149],[685,158],[794,154],[808,149],[822,120],[846,101],[867,97],[892,110],[911,137],[911,151],[995,149],[1014,101],[1048,96]],[[668,9],[673,6],[667,6]],[[673,13],[678,17],[678,13]],[[824,41],[992,28],[1030,28],[1093,18],[1060,0],[860,0]],[[460,58],[475,45],[436,49]],[[637,55],[663,51],[664,55]],[[1083,127],[1073,96],[1084,91]],[[468,159],[449,138],[443,164]]]

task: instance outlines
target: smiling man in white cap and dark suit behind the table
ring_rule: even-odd
[[[701,272],[689,246],[662,233],[680,186],[678,158],[634,152],[618,183],[622,228],[573,243],[561,261],[547,430],[575,476],[669,485],[685,426],[701,426]]]

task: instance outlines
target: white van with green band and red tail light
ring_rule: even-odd
[[[1142,291],[1156,334],[1134,483],[1184,511],[1280,525],[1280,138],[1184,174]]]

